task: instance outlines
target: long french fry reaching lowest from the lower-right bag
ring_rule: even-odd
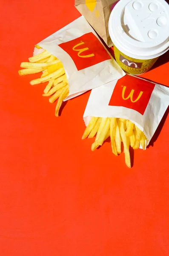
[[[126,133],[124,130],[124,122],[120,121],[119,126],[120,126],[120,135],[124,145],[125,163],[126,163],[126,166],[131,168],[130,153],[129,153],[129,137],[126,137]]]

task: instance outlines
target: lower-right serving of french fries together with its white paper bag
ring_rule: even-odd
[[[83,119],[82,139],[95,137],[92,151],[108,137],[112,152],[130,168],[129,147],[146,149],[169,106],[169,87],[126,75],[92,90]]]

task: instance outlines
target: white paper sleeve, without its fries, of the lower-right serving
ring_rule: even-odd
[[[83,115],[125,118],[146,135],[148,143],[169,106],[169,87],[126,75],[92,90]],[[140,146],[141,148],[141,146]]]

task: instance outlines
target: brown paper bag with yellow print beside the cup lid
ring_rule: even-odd
[[[118,0],[75,0],[75,7],[95,29],[105,43],[112,47],[109,36],[109,16]]]

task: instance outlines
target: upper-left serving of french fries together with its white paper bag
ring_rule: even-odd
[[[43,96],[51,103],[58,99],[55,116],[64,100],[125,75],[83,16],[37,44],[20,67],[21,76],[41,73],[30,84],[48,82]]]

